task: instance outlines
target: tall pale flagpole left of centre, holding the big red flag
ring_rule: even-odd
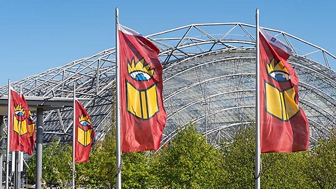
[[[119,61],[119,11],[116,8],[116,162],[117,189],[121,189],[121,142],[120,142],[120,61]]]

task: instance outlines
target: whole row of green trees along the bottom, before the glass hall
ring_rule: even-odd
[[[43,150],[43,182],[71,184],[72,148],[56,142]],[[158,152],[123,153],[123,188],[254,188],[255,128],[237,131],[216,149],[197,128],[180,128]],[[262,153],[261,188],[335,188],[336,135],[314,149]],[[35,156],[28,160],[29,182],[36,178]],[[76,187],[116,187],[116,130],[92,146],[89,162],[76,163]]]

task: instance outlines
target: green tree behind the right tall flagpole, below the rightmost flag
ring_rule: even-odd
[[[254,188],[255,126],[238,130],[232,143],[222,145],[225,188]],[[304,166],[307,152],[262,153],[261,188],[311,188]]]

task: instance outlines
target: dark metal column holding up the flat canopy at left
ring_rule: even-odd
[[[43,109],[37,109],[36,129],[36,189],[42,188]]]

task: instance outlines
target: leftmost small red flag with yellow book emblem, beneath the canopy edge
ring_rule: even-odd
[[[30,139],[28,129],[28,106],[25,99],[21,99],[15,90],[10,89],[10,115],[9,119],[9,151],[27,152],[30,151]]]

